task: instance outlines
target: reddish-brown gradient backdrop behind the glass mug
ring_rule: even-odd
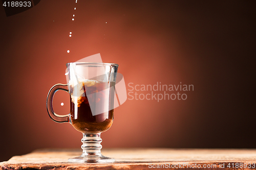
[[[255,1],[44,0],[6,17],[0,7],[0,161],[80,148],[82,134],[50,119],[46,97],[66,83],[66,63],[97,53],[119,64],[127,90],[194,85],[185,101],[127,100],[102,133],[103,149],[256,148],[255,9]],[[57,113],[68,103],[56,93]]]

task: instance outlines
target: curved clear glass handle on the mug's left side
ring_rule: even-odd
[[[65,123],[69,122],[69,114],[66,115],[58,115],[53,111],[52,102],[53,102],[53,96],[58,90],[63,90],[69,92],[69,86],[68,84],[55,84],[49,91],[47,95],[46,100],[46,107],[49,116],[57,123]]]

